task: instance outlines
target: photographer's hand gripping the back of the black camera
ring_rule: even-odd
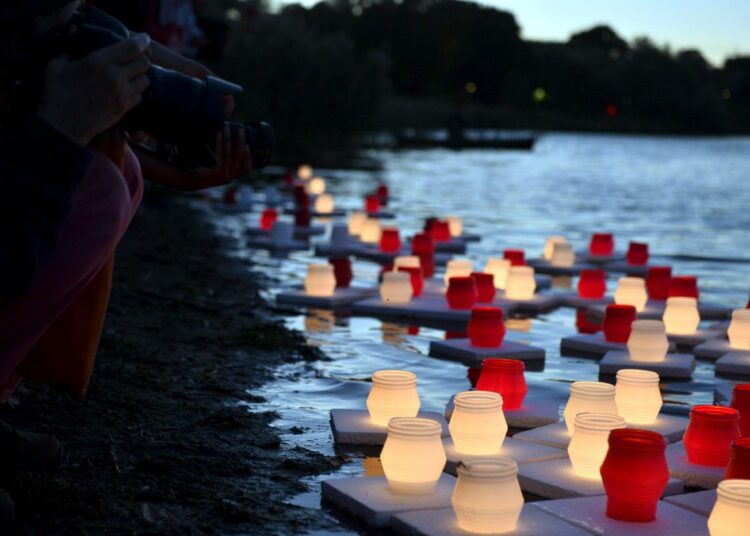
[[[47,65],[37,115],[85,146],[143,100],[148,87],[150,39],[139,34],[83,59]]]

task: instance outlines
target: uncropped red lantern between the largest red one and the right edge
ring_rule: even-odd
[[[690,462],[723,467],[729,461],[729,445],[738,437],[740,415],[736,409],[693,406],[682,441]]]

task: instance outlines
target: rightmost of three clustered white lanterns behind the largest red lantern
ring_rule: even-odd
[[[628,424],[653,424],[661,410],[659,375],[640,369],[617,371],[615,403]]]

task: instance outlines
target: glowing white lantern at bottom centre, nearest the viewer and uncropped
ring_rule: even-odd
[[[451,504],[458,528],[474,534],[515,530],[523,509],[518,465],[504,456],[459,462]]]

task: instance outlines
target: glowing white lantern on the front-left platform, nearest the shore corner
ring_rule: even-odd
[[[388,422],[380,461],[393,493],[424,495],[435,490],[446,462],[442,430],[439,422],[418,417]]]

